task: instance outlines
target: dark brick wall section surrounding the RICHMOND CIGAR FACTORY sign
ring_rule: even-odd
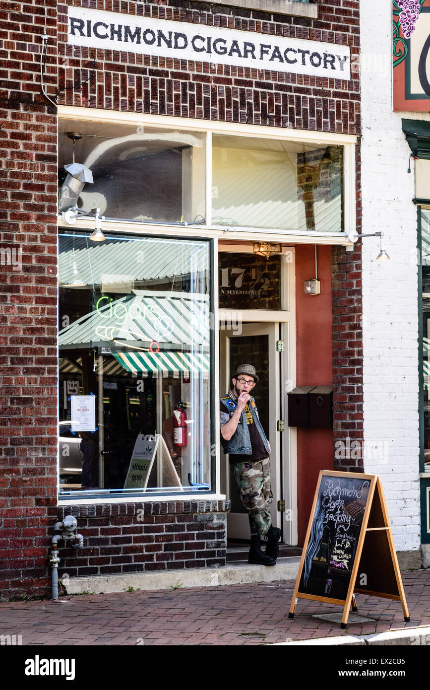
[[[358,134],[360,94],[358,73],[351,81],[236,68],[132,52],[67,46],[67,6],[202,23],[316,41],[359,50],[358,0],[340,8],[339,0],[318,4],[318,19],[218,8],[209,3],[170,2],[167,6],[121,0],[66,0],[59,3],[59,81],[61,103],[107,110],[205,118],[277,127],[291,126]],[[213,10],[213,11],[211,11]],[[272,21],[269,21],[272,20]],[[86,79],[96,58],[96,73]]]

